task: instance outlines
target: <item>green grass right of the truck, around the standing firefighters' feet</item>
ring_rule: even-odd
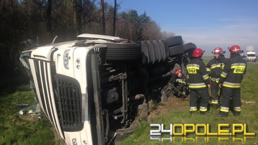
[[[207,63],[209,60],[203,60]],[[163,134],[159,139],[150,139],[149,133],[151,129],[157,127],[149,127],[149,122],[141,122],[141,127],[137,129],[128,139],[121,143],[121,145],[257,145],[258,144],[258,65],[248,63],[247,73],[244,76],[241,84],[241,100],[256,102],[244,103],[242,102],[242,111],[239,117],[233,115],[232,111],[229,112],[227,118],[219,118],[216,113],[219,110],[210,110],[212,115],[195,114],[190,116],[189,108],[182,108],[181,110],[167,110],[160,114],[160,118],[152,118],[151,123],[164,124],[165,129],[169,129],[170,124],[209,124],[210,132],[218,132],[218,124],[229,124],[230,127],[223,127],[223,129],[232,130],[232,124],[246,124],[247,132],[255,133],[255,137],[247,137],[244,139],[242,133],[237,134],[235,137],[197,137],[194,133],[190,133],[186,137],[173,138],[169,134]],[[184,101],[188,104],[189,102]],[[176,129],[177,130],[177,129]],[[187,139],[188,138],[188,139]],[[182,141],[183,140],[183,141]],[[208,140],[208,142],[207,142]]]

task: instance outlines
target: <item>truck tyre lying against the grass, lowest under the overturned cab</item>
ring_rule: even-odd
[[[140,127],[140,123],[138,121],[133,121],[132,124],[130,125],[130,127],[128,128],[123,128],[123,129],[117,129],[116,132],[116,136],[114,138],[114,143],[115,145],[118,145],[120,142],[124,141],[126,138],[129,137],[129,135],[131,135],[136,128]]]

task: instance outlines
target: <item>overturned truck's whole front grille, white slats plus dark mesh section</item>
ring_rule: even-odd
[[[50,72],[55,70],[50,66],[48,61],[34,60],[41,108],[59,135],[62,131],[79,131],[83,128],[80,85],[61,74],[54,78]]]

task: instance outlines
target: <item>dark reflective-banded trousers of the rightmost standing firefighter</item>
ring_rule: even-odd
[[[233,106],[234,106],[234,115],[240,115],[241,113],[241,98],[240,98],[240,89],[222,89],[222,104],[220,109],[220,114],[223,116],[228,116],[229,106],[230,106],[230,98],[232,98]]]

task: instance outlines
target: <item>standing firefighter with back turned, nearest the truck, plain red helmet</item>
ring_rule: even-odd
[[[196,48],[193,51],[192,59],[186,64],[187,79],[190,89],[190,114],[197,111],[198,96],[200,97],[200,114],[211,114],[207,110],[209,102],[210,80],[208,72],[206,71],[202,55],[205,51]]]

